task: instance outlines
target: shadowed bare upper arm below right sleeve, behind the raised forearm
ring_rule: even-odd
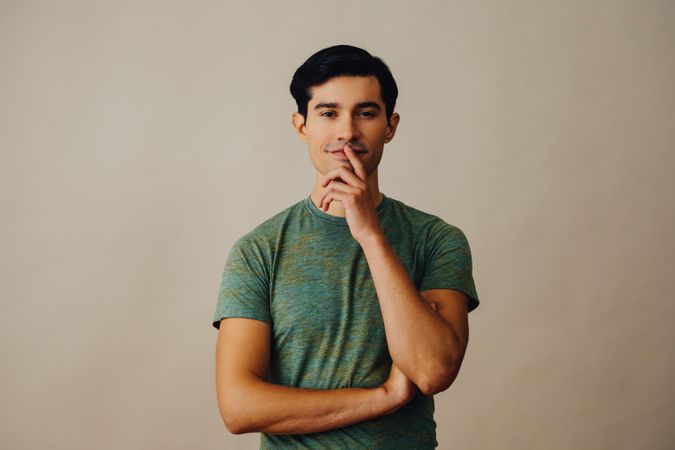
[[[459,360],[469,342],[468,296],[455,289],[429,289],[420,292],[425,300],[435,305],[438,315],[448,324],[459,341]]]

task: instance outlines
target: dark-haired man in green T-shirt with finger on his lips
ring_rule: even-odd
[[[323,49],[291,93],[314,190],[229,252],[213,321],[223,420],[261,448],[435,448],[433,395],[479,303],[466,237],[378,189],[400,119],[382,60]]]

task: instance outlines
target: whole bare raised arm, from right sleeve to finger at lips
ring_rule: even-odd
[[[445,306],[435,314],[420,294],[379,223],[363,163],[344,146],[353,171],[345,167],[324,176],[319,207],[339,201],[352,236],[363,248],[380,301],[389,352],[394,363],[425,395],[447,389],[459,371],[468,339],[467,299],[441,289]],[[341,181],[337,181],[337,180]]]

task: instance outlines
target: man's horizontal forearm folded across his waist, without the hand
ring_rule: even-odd
[[[400,407],[387,390],[290,388],[262,380],[231,387],[227,401],[232,432],[307,434],[390,414]]]

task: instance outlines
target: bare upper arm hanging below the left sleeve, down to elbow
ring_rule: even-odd
[[[271,327],[256,319],[228,317],[220,321],[216,344],[216,392],[220,414],[233,428],[233,406],[245,401],[241,386],[266,380]]]

